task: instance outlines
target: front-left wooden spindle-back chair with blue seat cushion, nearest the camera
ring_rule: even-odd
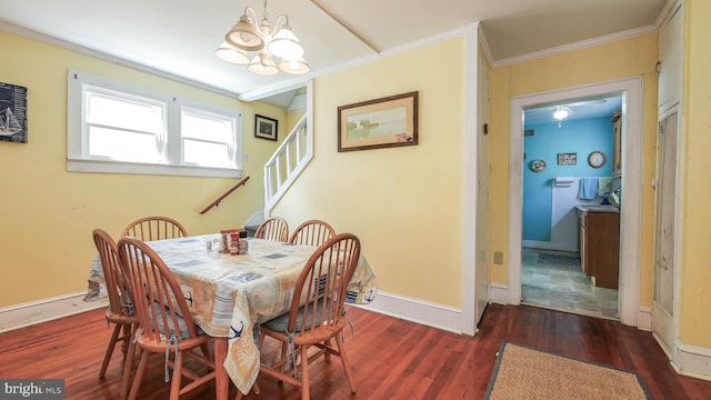
[[[136,297],[136,316],[140,327],[140,334],[131,346],[136,343],[142,351],[129,399],[136,399],[149,358],[154,353],[166,354],[166,381],[169,380],[168,367],[173,370],[171,400],[214,380],[214,361],[210,358],[208,347],[212,337],[196,324],[182,289],[163,260],[137,238],[119,240],[118,249],[121,267],[130,278],[130,287]],[[202,354],[196,351],[198,348]],[[172,360],[168,357],[171,352]],[[206,366],[207,373],[200,376],[183,368],[187,359]],[[127,362],[126,369],[130,371],[131,364],[132,362]],[[183,376],[192,382],[181,387]]]

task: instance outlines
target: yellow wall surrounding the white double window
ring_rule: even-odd
[[[276,142],[256,140],[254,112],[281,120],[286,112],[101,61],[0,31],[0,80],[28,88],[28,143],[0,142],[0,307],[80,292],[96,248],[91,231],[117,237],[130,221],[164,214],[190,233],[241,226],[263,208],[262,166]],[[67,71],[141,84],[243,111],[247,187],[219,208],[199,213],[237,180],[67,172]],[[280,132],[283,137],[283,133]]]

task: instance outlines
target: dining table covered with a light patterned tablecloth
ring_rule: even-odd
[[[216,392],[218,399],[227,399],[230,380],[244,394],[254,384],[260,368],[258,326],[289,311],[297,279],[317,248],[249,238],[244,254],[231,254],[219,252],[220,237],[147,243],[176,276],[196,323],[216,338]],[[377,291],[378,279],[361,254],[346,302],[367,304]],[[97,256],[84,301],[106,297]]]

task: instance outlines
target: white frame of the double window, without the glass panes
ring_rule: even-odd
[[[167,147],[164,162],[146,163],[89,157],[83,99],[83,88],[87,86],[163,102],[166,104],[167,113]],[[218,178],[242,177],[242,113],[237,110],[229,110],[189,99],[180,99],[150,89],[71,70],[67,74],[67,92],[68,171]],[[233,118],[236,136],[232,148],[232,158],[236,162],[234,168],[196,166],[193,163],[182,161],[183,149],[180,122],[183,109],[189,110],[190,112],[203,113],[206,116]]]

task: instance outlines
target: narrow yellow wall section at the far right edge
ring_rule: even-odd
[[[684,344],[711,348],[711,2],[687,0],[680,328]]]

